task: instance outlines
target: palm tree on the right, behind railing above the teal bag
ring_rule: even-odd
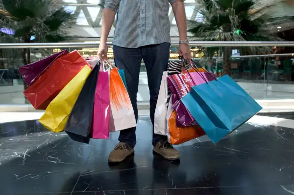
[[[196,41],[278,41],[270,26],[287,21],[274,18],[269,8],[278,1],[265,3],[264,0],[198,0],[198,13],[202,21],[188,21],[189,32]],[[247,47],[248,48],[248,47]],[[243,48],[245,49],[245,48]],[[260,48],[249,47],[251,53]],[[270,51],[270,47],[263,47]],[[222,53],[223,72],[231,75],[231,47],[203,47],[205,59]],[[248,51],[246,51],[248,53]]]

